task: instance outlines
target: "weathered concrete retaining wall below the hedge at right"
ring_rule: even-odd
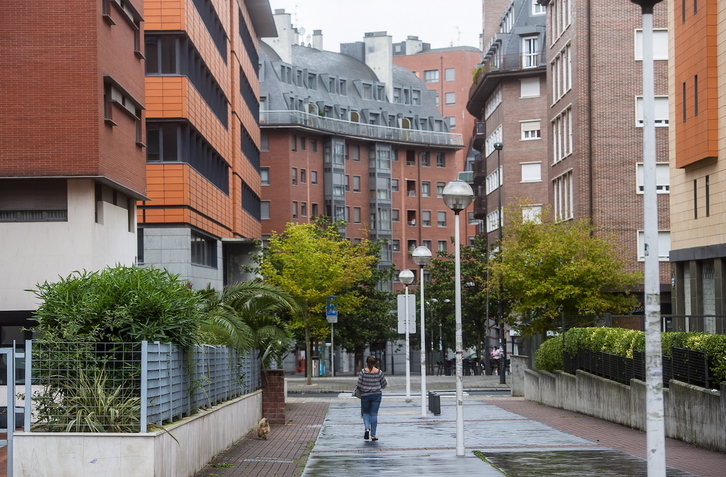
[[[525,369],[524,397],[548,406],[646,429],[645,383],[625,385],[577,371],[575,376]],[[663,390],[665,434],[698,447],[726,452],[726,382],[721,390],[671,380]]]

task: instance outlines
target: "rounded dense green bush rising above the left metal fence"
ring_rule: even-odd
[[[41,340],[197,343],[199,298],[165,270],[118,265],[30,291],[40,301],[34,320]]]

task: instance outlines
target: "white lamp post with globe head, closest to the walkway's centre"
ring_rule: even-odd
[[[474,200],[474,191],[464,181],[454,180],[446,184],[442,193],[444,204],[454,211],[454,305],[456,318],[456,455],[464,456],[464,377],[462,359],[464,345],[461,326],[461,252],[459,251],[459,213]]]

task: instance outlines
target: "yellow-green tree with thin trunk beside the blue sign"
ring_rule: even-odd
[[[310,332],[327,329],[326,299],[337,297],[339,313],[355,310],[363,300],[355,285],[370,276],[376,260],[369,254],[367,240],[353,244],[340,234],[342,228],[342,223],[329,221],[290,223],[283,233],[273,233],[263,249],[262,276],[300,307],[292,315],[292,326],[304,332],[308,384],[312,384]]]

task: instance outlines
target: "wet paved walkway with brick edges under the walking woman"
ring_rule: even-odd
[[[308,394],[309,386],[292,380],[289,391],[308,393],[290,394],[288,423],[272,426],[267,441],[256,435],[241,439],[196,477],[358,477],[382,472],[477,477],[647,474],[643,432],[522,398],[481,395],[477,389],[501,389],[498,378],[465,378],[472,382],[465,383],[471,391],[464,398],[463,457],[456,456],[453,387],[442,394],[441,415],[427,413],[423,418],[416,388],[412,386],[408,401],[400,393],[405,382],[389,379],[391,389],[384,393],[379,413],[380,440],[371,442],[363,440],[359,401],[349,396],[354,379],[323,382],[321,378],[319,395]],[[497,383],[487,384],[493,379]],[[429,388],[447,385],[432,381]],[[321,394],[340,387],[344,392],[339,395]],[[667,439],[666,459],[669,477],[720,477],[726,469],[726,454],[672,439]]]

